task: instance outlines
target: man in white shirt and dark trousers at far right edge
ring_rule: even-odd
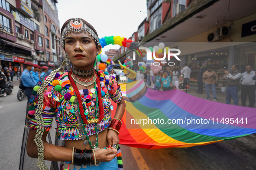
[[[246,98],[247,95],[249,97],[249,107],[254,107],[255,103],[255,89],[254,84],[255,80],[253,80],[253,76],[255,76],[255,71],[253,71],[253,67],[247,65],[245,68],[246,72],[243,72],[240,82],[242,82],[241,88],[241,99],[242,106],[246,106]]]

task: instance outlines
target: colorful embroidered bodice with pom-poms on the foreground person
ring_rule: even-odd
[[[96,95],[95,91],[97,89],[82,89],[79,90],[80,97],[83,103],[84,111],[88,124],[84,125],[85,132],[88,136],[96,133],[97,125],[98,132],[102,132],[109,126],[110,123],[110,110],[113,110],[110,98],[118,103],[122,98],[121,88],[116,80],[108,75],[108,72],[98,71],[97,74],[100,76],[100,86],[101,86],[101,100],[104,109],[104,118],[99,123],[94,123],[95,121],[95,103]],[[46,78],[45,78],[46,79]],[[39,82],[39,84],[42,82]],[[34,88],[35,90],[35,88]],[[28,118],[30,120],[30,129],[37,129],[36,119],[33,117],[37,106],[38,94],[33,91],[31,101],[35,101],[29,105]],[[55,79],[45,88],[44,90],[44,107],[42,111],[42,116],[44,119],[45,131],[49,131],[52,127],[52,120],[55,117],[57,123],[56,137],[58,139],[65,140],[75,140],[80,139],[81,133],[79,133],[78,126],[81,124],[81,119],[79,118],[78,112],[78,95],[74,93],[71,86],[71,82],[68,79],[68,72],[64,72],[59,75],[56,74]],[[98,107],[99,108],[99,107]],[[97,117],[100,113],[98,112]]]

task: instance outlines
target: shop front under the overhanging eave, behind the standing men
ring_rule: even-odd
[[[211,66],[212,70],[217,73],[215,80],[217,88],[226,87],[227,80],[224,79],[225,68],[230,72],[231,66],[237,64],[240,72],[245,72],[246,65],[251,65],[253,70],[256,70],[256,42],[201,51],[188,54],[183,58],[191,68],[189,82],[191,85],[198,85],[198,64],[201,63],[204,71],[207,71],[207,66]]]

